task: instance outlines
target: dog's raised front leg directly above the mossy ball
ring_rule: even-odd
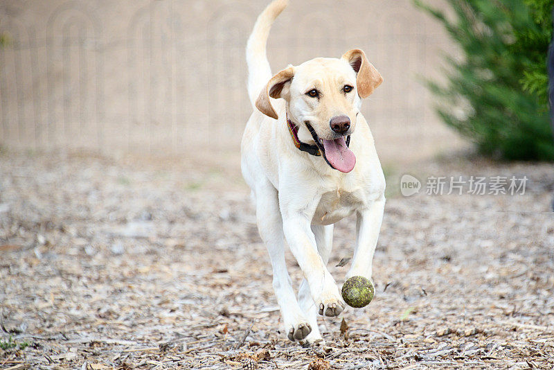
[[[356,231],[357,240],[352,266],[346,274],[346,279],[352,276],[364,276],[371,279],[373,254],[377,247],[377,238],[383,220],[385,207],[384,196],[375,200],[367,209],[357,213]]]

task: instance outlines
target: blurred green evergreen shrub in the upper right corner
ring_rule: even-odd
[[[415,3],[463,54],[446,57],[446,84],[428,82],[443,121],[485,155],[554,160],[546,72],[553,1],[446,0],[453,16]]]

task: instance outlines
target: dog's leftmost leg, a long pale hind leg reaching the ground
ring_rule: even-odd
[[[263,186],[256,186],[255,193],[258,231],[271,259],[273,288],[287,337],[292,341],[303,340],[312,331],[312,326],[298,305],[296,294],[292,289],[292,281],[287,272],[285,236],[283,235],[283,221],[279,211],[277,191],[268,182]]]

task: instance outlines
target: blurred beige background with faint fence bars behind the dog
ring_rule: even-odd
[[[238,148],[251,114],[244,46],[267,1],[31,3],[0,5],[1,145],[178,155]],[[268,53],[278,71],[354,47],[385,79],[364,103],[382,155],[452,146],[418,82],[438,75],[438,51],[449,44],[411,1],[292,0]]]

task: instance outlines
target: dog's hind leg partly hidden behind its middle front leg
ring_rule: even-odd
[[[333,243],[333,225],[313,225],[312,232],[316,238],[317,252],[321,256],[323,263],[325,265],[329,261],[329,256],[331,254],[332,243]],[[318,308],[312,299],[312,294],[310,293],[310,286],[307,283],[306,279],[302,280],[300,284],[300,289],[298,290],[298,303],[300,307],[305,312],[312,326],[312,333],[305,338],[307,344],[325,344],[321,333],[319,333],[319,327],[317,326],[317,317],[318,317]]]

